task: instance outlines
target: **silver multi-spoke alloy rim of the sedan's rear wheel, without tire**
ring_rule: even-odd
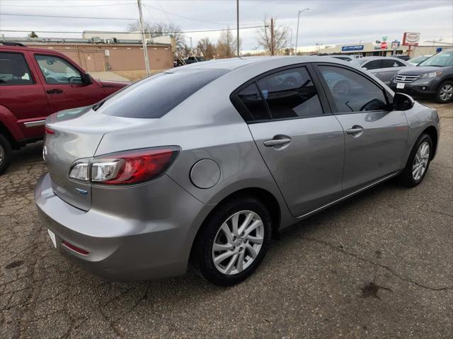
[[[212,244],[215,268],[224,275],[235,275],[246,270],[263,246],[263,221],[253,211],[231,215],[220,226]]]

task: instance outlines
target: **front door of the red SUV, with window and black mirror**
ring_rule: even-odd
[[[67,59],[40,53],[35,53],[34,59],[41,71],[51,113],[92,105],[105,96],[98,84],[82,84],[81,70]]]

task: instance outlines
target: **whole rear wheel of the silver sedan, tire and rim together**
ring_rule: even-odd
[[[271,238],[271,218],[255,197],[221,205],[195,242],[195,260],[206,280],[230,286],[246,280],[263,260]]]

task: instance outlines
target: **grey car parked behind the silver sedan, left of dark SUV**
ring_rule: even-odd
[[[366,69],[386,85],[390,84],[391,78],[397,71],[413,67],[412,64],[394,57],[362,57],[352,60],[351,63]]]

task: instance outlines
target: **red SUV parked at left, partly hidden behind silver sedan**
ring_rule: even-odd
[[[124,86],[91,78],[60,52],[0,42],[0,174],[12,149],[42,139],[47,115],[93,105]]]

